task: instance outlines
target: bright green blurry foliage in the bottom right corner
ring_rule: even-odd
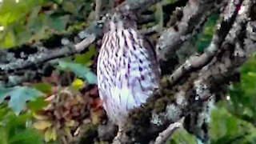
[[[212,144],[256,143],[256,128],[230,114],[224,107],[212,111],[209,130]]]

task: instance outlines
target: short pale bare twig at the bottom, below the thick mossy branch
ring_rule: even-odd
[[[184,121],[184,118],[182,118],[179,122],[174,122],[170,124],[170,126],[167,127],[166,130],[162,131],[162,133],[158,135],[158,138],[155,139],[154,144],[166,143],[166,141],[171,137],[171,135],[174,134],[174,131],[182,127],[183,121]]]

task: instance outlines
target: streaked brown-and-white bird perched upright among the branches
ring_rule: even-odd
[[[115,13],[98,55],[98,91],[110,121],[126,124],[130,110],[158,88],[160,69],[154,48],[136,30],[133,17]]]

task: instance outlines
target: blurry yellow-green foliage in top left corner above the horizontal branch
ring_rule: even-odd
[[[0,47],[9,48],[82,27],[92,0],[2,0]],[[81,28],[80,28],[81,29]]]

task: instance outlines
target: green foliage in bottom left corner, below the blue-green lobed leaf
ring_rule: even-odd
[[[16,115],[6,105],[0,105],[0,143],[42,144],[38,132],[28,126],[30,114]]]

